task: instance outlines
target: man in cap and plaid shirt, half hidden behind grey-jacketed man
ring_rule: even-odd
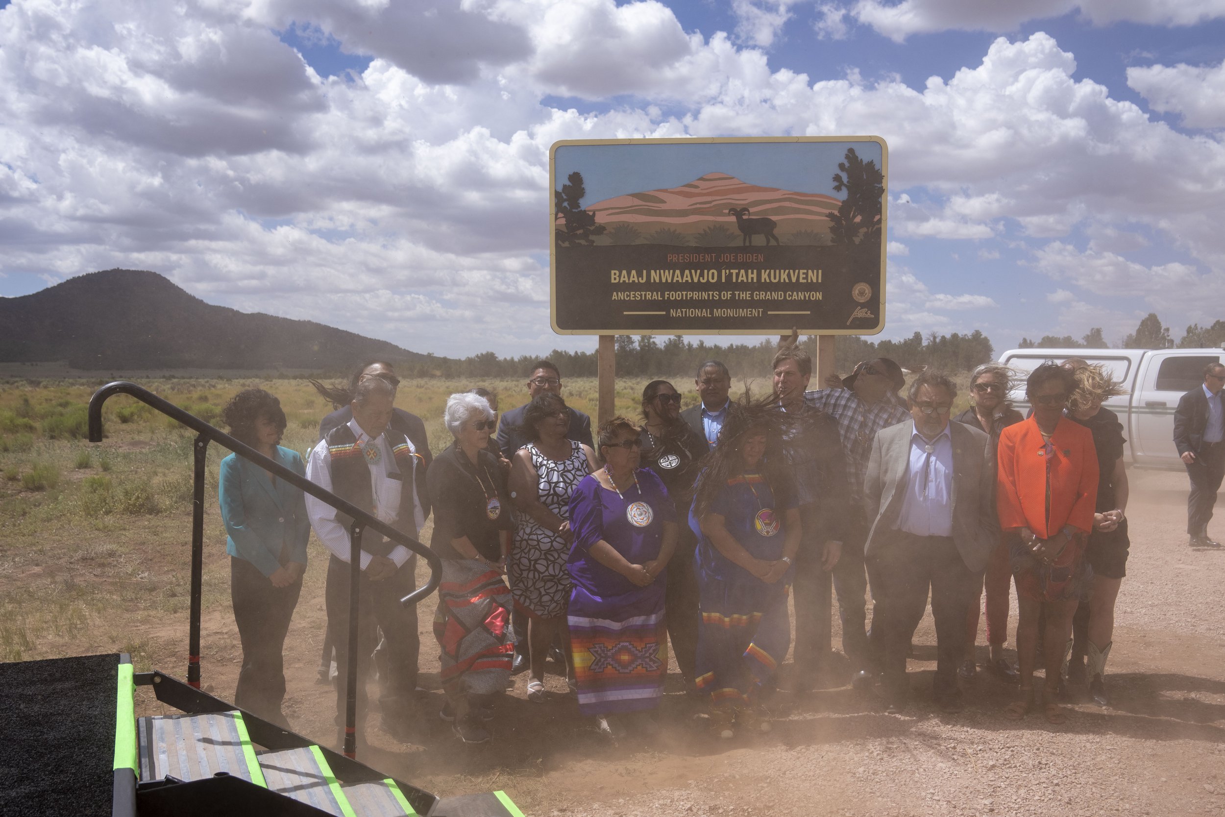
[[[838,590],[838,611],[843,627],[843,652],[855,672],[851,682],[859,688],[871,685],[875,669],[873,653],[865,633],[865,592],[867,573],[864,567],[864,541],[867,538],[867,517],[864,511],[864,474],[872,452],[872,439],[881,429],[910,419],[898,390],[905,385],[902,367],[888,358],[867,360],[842,381],[843,388],[822,388],[805,392],[804,399],[838,420],[843,450],[846,453],[846,481],[850,495],[846,538],[842,556],[833,570],[833,585]],[[828,631],[827,631],[828,632]]]

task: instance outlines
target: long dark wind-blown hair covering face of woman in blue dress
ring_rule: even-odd
[[[753,401],[748,392],[728,407],[728,419],[719,430],[719,443],[701,461],[702,473],[693,486],[695,513],[701,519],[714,511],[712,505],[728,480],[744,472],[740,447],[750,437],[766,436],[766,453],[758,470],[772,485],[791,479],[783,457],[783,440],[805,423],[797,415],[780,410],[778,398],[771,394]]]

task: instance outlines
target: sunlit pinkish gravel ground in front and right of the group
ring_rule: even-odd
[[[1062,726],[1036,714],[1016,724],[1001,714],[1008,688],[980,675],[967,685],[964,713],[938,713],[926,695],[929,614],[910,663],[916,699],[902,715],[845,688],[784,699],[774,731],[753,745],[707,741],[685,755],[626,747],[561,763],[544,774],[549,796],[535,813],[1223,813],[1225,551],[1187,548],[1186,475],[1133,470],[1131,481],[1132,555],[1107,668],[1114,708],[1079,704]],[[1212,529],[1225,539],[1223,519]],[[674,699],[665,707],[684,708]],[[687,714],[662,719],[697,729]]]

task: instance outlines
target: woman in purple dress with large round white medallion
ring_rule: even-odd
[[[567,621],[578,709],[610,737],[625,734],[627,717],[659,706],[668,674],[664,572],[676,546],[676,511],[663,481],[638,468],[638,434],[621,416],[601,424],[604,468],[570,500]]]

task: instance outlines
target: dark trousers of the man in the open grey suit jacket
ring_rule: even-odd
[[[936,620],[937,697],[956,695],[957,665],[965,657],[965,616],[982,574],[962,560],[952,537],[915,537],[895,530],[872,556],[876,615],[881,630],[886,690],[907,691],[907,654],[910,639],[927,609]]]

